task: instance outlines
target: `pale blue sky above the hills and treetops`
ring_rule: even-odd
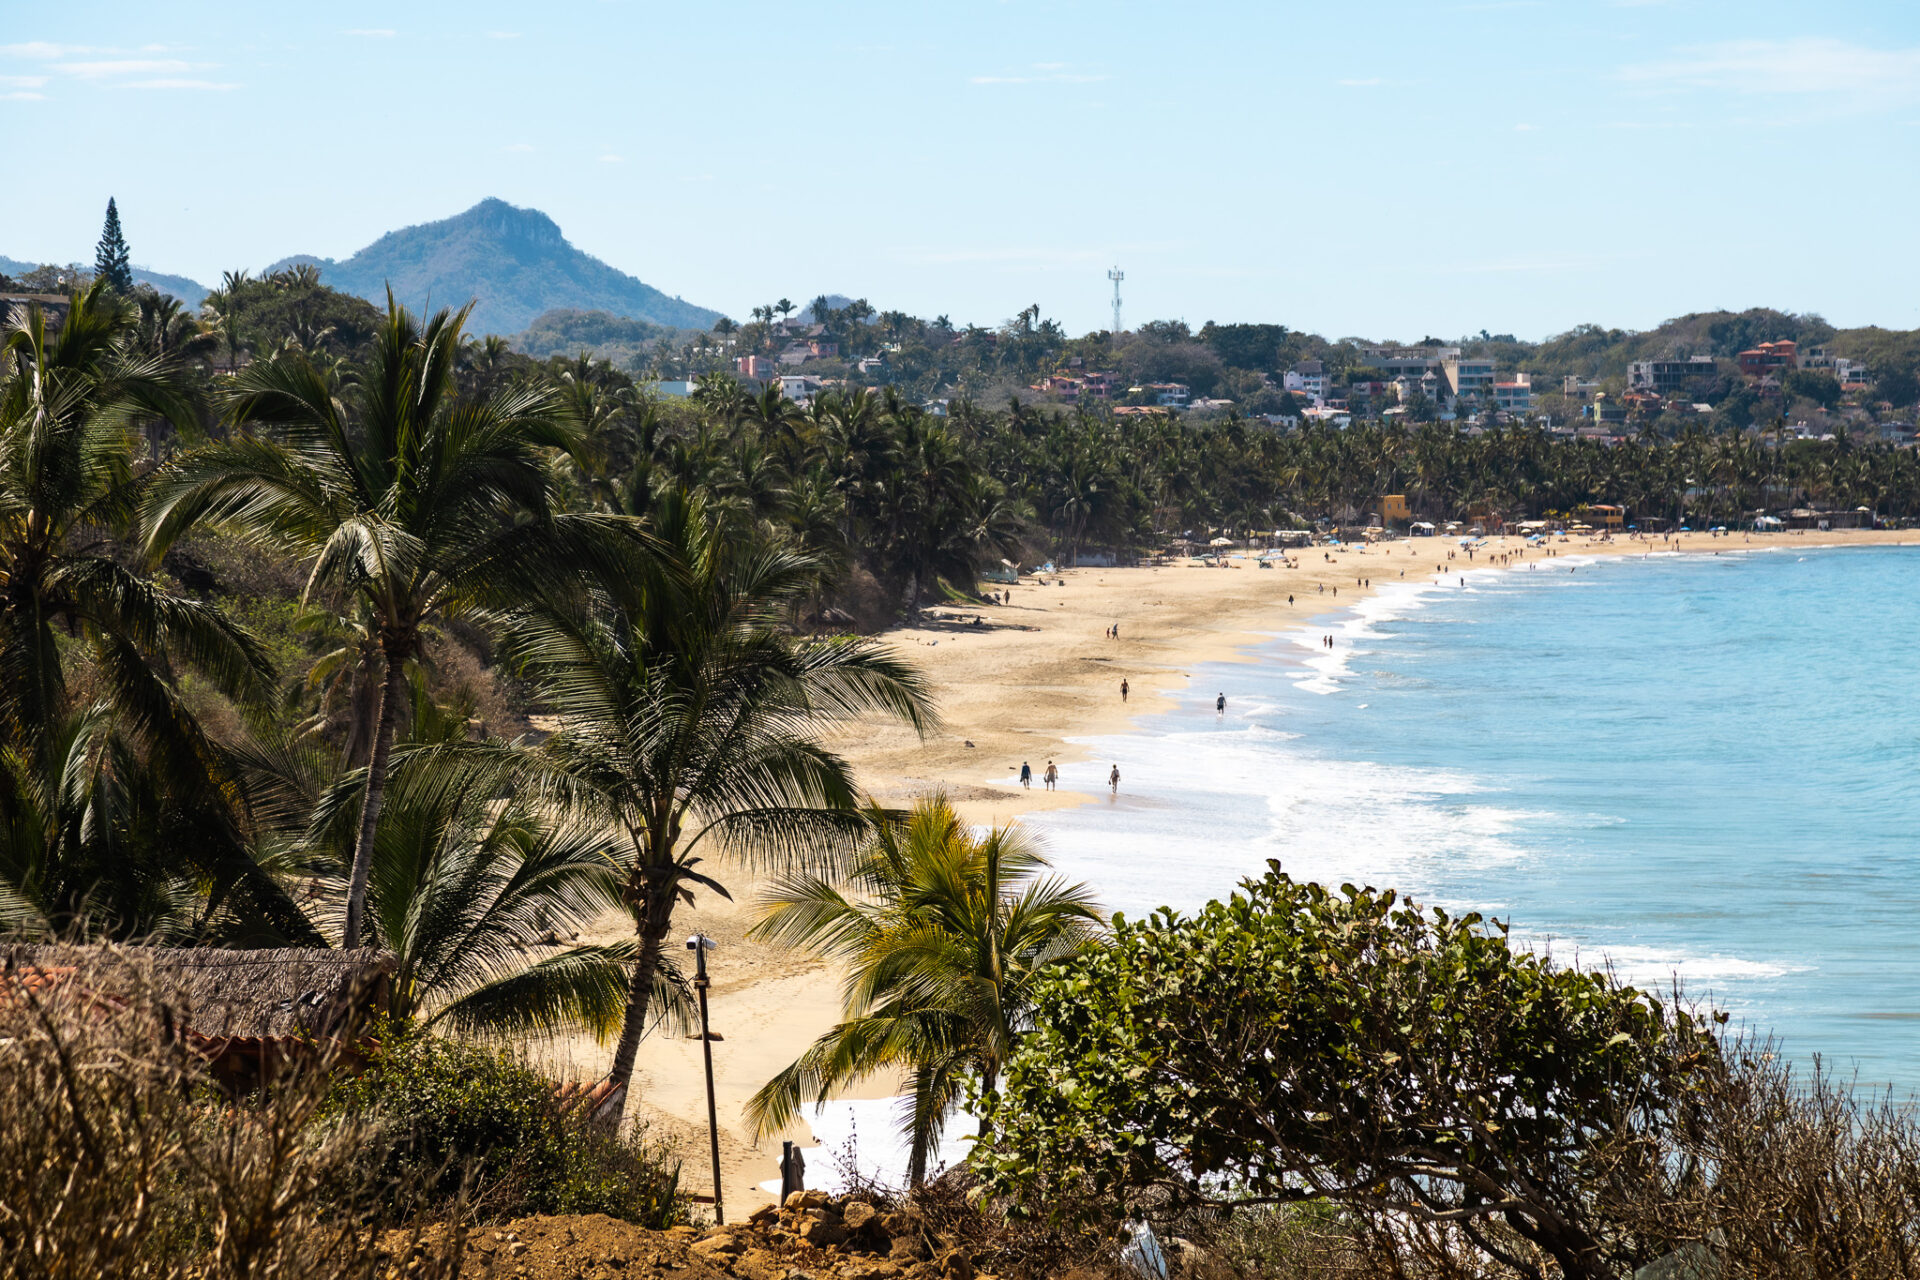
[[[1920,326],[1912,0],[0,0],[0,253],[200,280],[501,196],[735,317]]]

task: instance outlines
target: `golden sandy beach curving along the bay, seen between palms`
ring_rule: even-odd
[[[908,804],[945,791],[964,818],[1008,823],[1021,814],[1077,804],[1085,793],[1048,793],[1048,760],[1064,777],[1094,789],[1104,762],[1085,760],[1069,739],[1121,733],[1187,687],[1200,664],[1250,660],[1260,641],[1346,608],[1388,581],[1427,581],[1436,568],[1465,572],[1559,557],[1738,553],[1766,547],[1920,543],[1920,532],[1682,533],[1653,539],[1569,537],[1526,547],[1484,539],[1469,560],[1457,539],[1423,537],[1346,549],[1290,551],[1292,566],[1229,560],[1208,568],[1181,560],[1142,568],[1081,568],[1025,578],[1004,604],[941,606],[916,626],[885,633],[929,677],[943,727],[920,739],[893,727],[860,727],[831,741],[881,802]],[[1452,558],[1450,558],[1452,553]],[[1288,603],[1292,597],[1292,603]],[[979,622],[975,622],[979,620]],[[1108,628],[1117,624],[1117,637]],[[1119,685],[1129,683],[1121,700]],[[1021,789],[1021,762],[1033,787]],[[806,1042],[839,1021],[839,977],[822,961],[745,938],[755,917],[755,877],[724,862],[718,877],[733,902],[701,896],[676,917],[684,933],[720,942],[712,956],[712,1021],[722,1171],[730,1217],[770,1197],[756,1184],[778,1176],[780,1138],[747,1140],[745,1100]],[[1098,889],[1098,887],[1096,887]],[[609,936],[616,929],[609,921]],[[710,1182],[707,1100],[697,1040],[655,1032],[641,1046],[630,1113],[684,1155],[689,1190]],[[609,1050],[588,1038],[543,1048],[549,1067],[578,1079],[605,1071]],[[893,1096],[893,1080],[870,1080],[854,1096]],[[804,1125],[783,1134],[812,1146]]]

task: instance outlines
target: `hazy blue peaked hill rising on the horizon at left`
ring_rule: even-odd
[[[555,309],[607,311],[672,328],[712,328],[718,311],[668,297],[624,271],[566,244],[538,209],[482,200],[440,223],[390,230],[344,261],[296,255],[269,267],[313,263],[336,290],[386,301],[386,286],[409,307],[474,299],[468,328],[516,334]]]

